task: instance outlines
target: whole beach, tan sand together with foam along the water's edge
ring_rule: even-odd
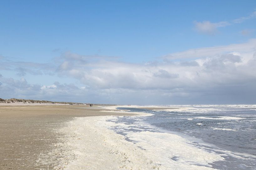
[[[128,112],[125,107],[0,106],[0,149],[3,151],[0,169],[212,170],[213,162],[224,159],[192,146],[192,141],[182,135],[154,129],[139,121],[141,116],[152,114]],[[146,109],[146,106],[131,107]],[[185,108],[147,106],[147,109]],[[131,120],[133,116],[133,123],[123,121],[123,117]]]

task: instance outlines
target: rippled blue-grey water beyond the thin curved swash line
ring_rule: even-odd
[[[198,108],[189,112],[157,112],[146,121],[230,151],[256,155],[255,109]]]

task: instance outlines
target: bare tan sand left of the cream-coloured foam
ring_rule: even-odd
[[[74,117],[124,115],[101,110],[95,105],[0,106],[0,170],[52,169],[53,165],[38,165],[36,160],[56,147],[61,134],[54,129]]]

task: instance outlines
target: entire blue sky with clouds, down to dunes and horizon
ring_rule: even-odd
[[[0,98],[256,104],[256,1],[0,0]]]

